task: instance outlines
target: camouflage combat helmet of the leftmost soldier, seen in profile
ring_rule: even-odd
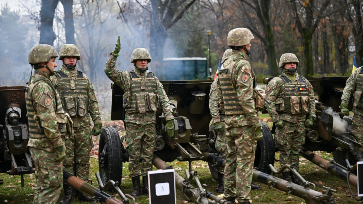
[[[32,47],[29,51],[29,64],[38,64],[41,62],[49,62],[50,59],[58,57],[58,53],[54,47],[46,44],[40,44]]]

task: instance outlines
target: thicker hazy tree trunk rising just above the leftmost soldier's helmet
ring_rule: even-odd
[[[40,44],[53,45],[56,34],[53,31],[53,18],[58,0],[42,0],[40,9]]]

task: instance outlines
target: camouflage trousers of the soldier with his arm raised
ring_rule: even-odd
[[[139,175],[146,176],[148,171],[152,171],[152,154],[155,149],[155,134],[155,123],[139,125],[126,122],[127,149],[129,150],[130,155],[130,177]]]

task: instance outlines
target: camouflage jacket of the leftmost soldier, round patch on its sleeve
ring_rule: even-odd
[[[49,74],[44,71],[35,70],[30,82],[39,78],[48,80]],[[44,128],[46,137],[29,138],[28,147],[54,152],[55,146],[63,144],[56,118],[56,94],[58,92],[54,93],[53,88],[46,82],[38,83],[31,91],[30,99],[32,104],[27,105],[33,106],[33,110],[40,120],[40,125]]]

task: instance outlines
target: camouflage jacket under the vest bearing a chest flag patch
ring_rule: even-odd
[[[282,73],[287,78],[288,75]],[[299,75],[296,73],[295,82],[299,81]],[[314,97],[314,90],[311,86],[310,82],[306,80],[306,86],[309,87],[309,98],[310,98],[310,107],[308,116],[316,117],[315,115],[315,97]],[[273,78],[266,86],[266,99],[270,101],[270,104],[265,103],[267,110],[269,112],[270,117],[272,118],[273,122],[277,120],[285,120],[292,123],[302,122],[305,121],[306,115],[305,114],[291,114],[291,113],[278,113],[276,110],[276,99],[285,96],[285,82],[280,77]]]

